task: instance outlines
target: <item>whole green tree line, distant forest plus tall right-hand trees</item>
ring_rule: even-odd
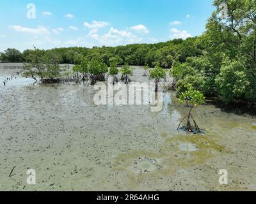
[[[223,11],[221,4],[227,5]],[[73,47],[40,50],[60,64],[140,65],[170,69],[172,88],[187,91],[187,84],[205,96],[225,102],[256,99],[256,0],[214,0],[216,10],[201,36],[156,44],[118,47]],[[224,15],[223,15],[224,14]],[[1,61],[31,62],[31,53],[8,49]],[[97,61],[95,61],[97,59]],[[54,63],[53,63],[54,64]],[[96,66],[96,65],[95,65]],[[104,67],[104,69],[106,69]],[[147,70],[145,71],[145,73]],[[116,70],[112,69],[115,76]]]

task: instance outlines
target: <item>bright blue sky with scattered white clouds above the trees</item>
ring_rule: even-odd
[[[213,10],[212,0],[3,0],[0,52],[186,39],[204,32]]]

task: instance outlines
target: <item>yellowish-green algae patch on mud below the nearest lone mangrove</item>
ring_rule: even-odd
[[[134,161],[143,157],[156,160],[159,164],[159,173],[164,173],[170,169],[179,169],[184,166],[193,166],[195,164],[204,163],[205,160],[211,157],[218,156],[216,153],[221,152],[225,154],[224,147],[211,140],[209,136],[204,135],[176,135],[173,138],[166,138],[164,133],[165,142],[159,146],[159,150],[152,151],[134,151],[127,154],[120,154],[116,157],[113,163],[115,170],[133,171]],[[194,149],[180,149],[180,144],[195,145]],[[186,152],[186,159],[184,158],[184,152]],[[168,161],[169,160],[169,161]],[[136,171],[134,171],[136,173]]]

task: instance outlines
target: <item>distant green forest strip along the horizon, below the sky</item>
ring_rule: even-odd
[[[195,45],[196,37],[186,40],[174,39],[159,43],[140,43],[129,45],[118,45],[116,47],[61,47],[52,49],[41,49],[45,54],[52,54],[58,57],[60,64],[77,64],[81,57],[88,60],[98,57],[102,62],[110,64],[111,58],[115,57],[118,65],[127,62],[133,66],[148,65],[153,68],[157,62],[163,68],[171,68],[174,61],[186,62],[188,57],[202,55],[200,45]],[[198,47],[197,47],[198,46]],[[28,62],[28,56],[34,48],[20,52],[16,48],[8,48],[0,52],[2,62]]]

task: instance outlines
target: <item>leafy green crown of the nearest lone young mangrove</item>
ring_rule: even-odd
[[[189,103],[191,103],[194,106],[202,105],[205,103],[205,97],[204,94],[202,94],[202,92],[195,90],[191,84],[186,84],[185,87],[187,91],[184,91],[180,94],[180,103],[189,101]]]

